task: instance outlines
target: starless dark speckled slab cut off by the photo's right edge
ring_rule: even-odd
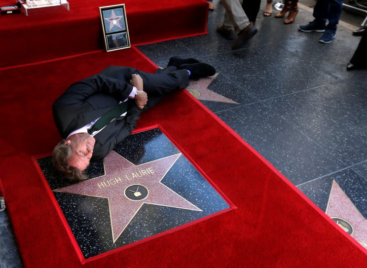
[[[264,104],[344,163],[367,159],[365,80],[333,83]]]

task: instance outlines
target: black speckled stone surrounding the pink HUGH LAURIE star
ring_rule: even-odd
[[[157,128],[128,136],[114,151],[135,165],[180,153]],[[55,171],[50,168],[50,157],[38,159],[38,163],[51,189],[71,184],[63,176],[55,176]],[[103,164],[101,166],[97,161],[93,165],[93,172],[88,170],[88,174],[90,178],[97,177],[100,175],[96,174],[104,174],[103,170]],[[226,201],[183,154],[161,182],[202,211],[144,204],[115,243],[112,242],[110,212],[106,198],[63,192],[54,192],[54,195],[85,258],[229,208]]]

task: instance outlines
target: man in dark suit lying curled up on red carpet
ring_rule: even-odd
[[[53,104],[55,124],[63,140],[52,153],[57,170],[83,180],[91,157],[105,157],[134,130],[142,112],[189,79],[215,75],[209,64],[172,57],[155,74],[110,66],[73,83]]]

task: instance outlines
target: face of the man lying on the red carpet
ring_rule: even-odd
[[[64,142],[64,145],[69,145],[72,148],[69,165],[80,170],[86,169],[92,157],[95,143],[96,140],[88,133],[76,133],[70,136]]]

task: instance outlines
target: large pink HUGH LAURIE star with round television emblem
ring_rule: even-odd
[[[104,158],[105,175],[53,191],[108,198],[115,243],[144,203],[202,211],[160,182],[180,155],[136,166],[111,151]]]

